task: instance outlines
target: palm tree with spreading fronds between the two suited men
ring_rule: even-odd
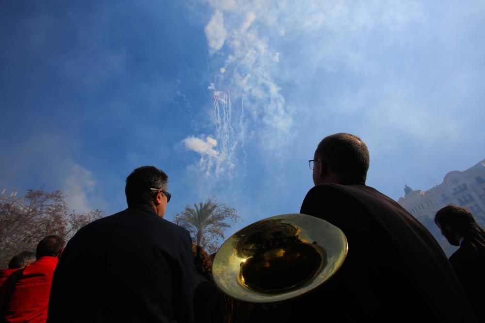
[[[197,246],[212,253],[217,251],[217,241],[225,239],[224,231],[231,227],[229,223],[235,223],[239,219],[235,209],[209,198],[205,202],[194,204],[194,207],[187,205],[178,224],[191,233]]]

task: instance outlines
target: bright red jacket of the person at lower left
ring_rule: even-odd
[[[41,257],[25,267],[18,277],[10,298],[5,322],[45,323],[47,321],[50,285],[57,261],[56,257]],[[1,288],[1,298],[4,292],[4,288]]]

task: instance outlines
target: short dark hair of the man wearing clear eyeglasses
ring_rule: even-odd
[[[341,184],[365,183],[369,169],[369,150],[359,137],[347,133],[327,136],[320,141],[315,158],[320,158]]]

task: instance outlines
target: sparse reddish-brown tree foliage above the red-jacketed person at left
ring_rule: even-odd
[[[37,243],[56,234],[69,240],[81,227],[101,217],[99,210],[71,211],[61,191],[30,189],[18,200],[0,200],[0,268],[21,251],[35,251]]]

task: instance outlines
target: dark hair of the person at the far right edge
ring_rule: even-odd
[[[441,227],[449,225],[451,231],[469,240],[475,247],[485,247],[485,232],[467,209],[445,206],[436,212],[435,223]]]

